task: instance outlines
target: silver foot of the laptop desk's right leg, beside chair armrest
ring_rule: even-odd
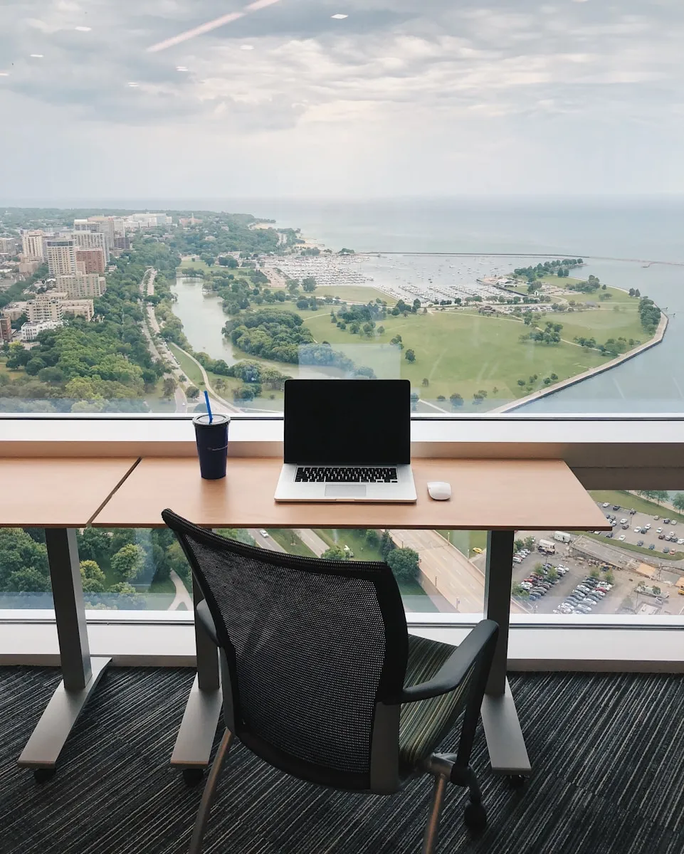
[[[507,679],[503,694],[484,695],[482,725],[494,774],[511,777],[512,786],[523,783],[520,778],[529,776],[532,769]]]

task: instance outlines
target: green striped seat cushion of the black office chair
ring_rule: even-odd
[[[438,640],[409,635],[404,685],[410,687],[430,680],[455,648]],[[455,691],[401,705],[399,761],[402,775],[412,774],[418,763],[429,757],[447,737],[465,709],[471,674],[472,670]]]

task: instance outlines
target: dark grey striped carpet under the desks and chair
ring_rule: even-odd
[[[170,768],[190,670],[109,670],[42,786],[15,758],[56,670],[0,670],[2,854],[179,854],[201,796]],[[474,764],[489,826],[472,839],[452,788],[440,852],[682,854],[684,678],[512,676],[534,775],[520,791]],[[448,747],[448,745],[447,745]],[[418,854],[430,781],[393,798],[334,793],[237,746],[219,783],[207,854]]]

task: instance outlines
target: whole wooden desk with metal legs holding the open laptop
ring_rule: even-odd
[[[143,459],[102,508],[94,525],[161,527],[170,507],[207,528],[395,528],[487,530],[484,610],[500,625],[482,721],[495,771],[529,774],[529,759],[506,680],[512,552],[516,530],[609,529],[561,460],[416,459],[416,504],[276,503],[281,460],[228,460],[225,480],[203,481],[196,459]],[[451,483],[452,499],[433,501],[426,483]],[[198,591],[195,591],[196,601]],[[196,630],[197,676],[172,763],[191,773],[208,764],[221,705],[216,648]]]

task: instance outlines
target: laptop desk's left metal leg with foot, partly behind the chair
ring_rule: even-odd
[[[194,579],[192,596],[196,605],[204,598]],[[171,757],[171,764],[184,770],[187,782],[195,782],[209,764],[222,703],[218,650],[197,622],[195,644],[197,675],[190,689]]]

